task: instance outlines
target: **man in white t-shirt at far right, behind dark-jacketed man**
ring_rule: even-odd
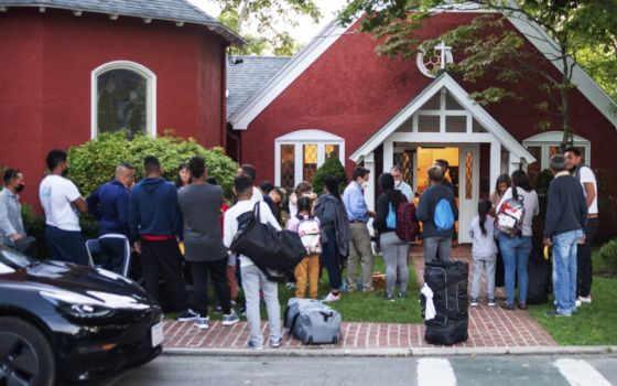
[[[578,179],[587,202],[587,226],[585,227],[585,244],[578,245],[576,253],[577,264],[577,293],[576,303],[592,302],[592,245],[598,229],[597,182],[594,171],[585,167],[581,150],[567,148],[565,150],[566,167],[572,175]]]

